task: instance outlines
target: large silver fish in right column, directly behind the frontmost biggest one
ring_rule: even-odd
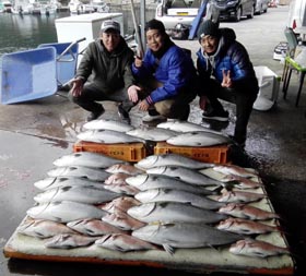
[[[210,209],[203,209],[187,203],[152,202],[128,209],[128,215],[143,223],[203,223],[213,224],[227,216]]]

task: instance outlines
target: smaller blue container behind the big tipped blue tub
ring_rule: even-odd
[[[78,51],[79,44],[72,45],[71,43],[60,44],[42,44],[38,48],[54,47],[57,52],[57,81],[58,85],[61,86],[74,77],[76,63],[78,63]],[[68,50],[67,52],[64,52]]]

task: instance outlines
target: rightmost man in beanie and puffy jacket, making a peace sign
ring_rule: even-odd
[[[236,104],[236,125],[233,140],[245,146],[247,124],[259,91],[252,63],[245,47],[236,40],[232,28],[219,28],[219,23],[204,21],[198,29],[201,48],[197,52],[200,76],[200,107],[204,119],[227,121],[228,112],[219,98]],[[207,99],[210,103],[208,108]]]

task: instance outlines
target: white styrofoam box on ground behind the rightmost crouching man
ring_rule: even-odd
[[[271,109],[278,100],[281,77],[268,67],[254,67],[254,70],[259,85],[254,109],[266,111]]]

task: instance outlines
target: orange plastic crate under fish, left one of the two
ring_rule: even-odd
[[[139,161],[146,157],[145,146],[142,143],[133,144],[99,144],[78,141],[73,145],[73,152],[92,152],[104,154],[125,161]]]

